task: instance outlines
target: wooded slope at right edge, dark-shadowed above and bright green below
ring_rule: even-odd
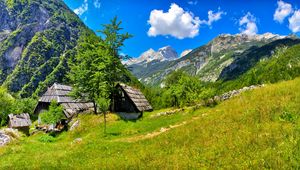
[[[292,45],[295,43],[296,45]],[[279,47],[278,44],[282,46]],[[266,52],[270,51],[267,48],[274,47],[277,49],[272,50],[271,56],[266,55]],[[237,57],[231,65],[223,69],[219,80],[222,82],[218,86],[219,93],[254,84],[276,83],[299,77],[299,51],[299,39],[282,39],[253,50],[245,57]]]

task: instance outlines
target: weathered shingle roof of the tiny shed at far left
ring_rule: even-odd
[[[18,115],[9,114],[9,125],[12,128],[26,127],[31,125],[30,116],[28,113],[22,113]]]

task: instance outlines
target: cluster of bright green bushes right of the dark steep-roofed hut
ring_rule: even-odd
[[[168,75],[164,84],[164,88],[148,88],[145,93],[155,109],[193,105],[216,94],[212,84],[201,82],[197,77],[183,71],[175,71]]]

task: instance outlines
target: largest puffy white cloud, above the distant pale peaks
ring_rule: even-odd
[[[151,25],[148,30],[149,36],[171,35],[183,39],[197,36],[201,21],[199,17],[194,17],[193,13],[184,11],[173,3],[168,12],[152,10],[148,23]]]

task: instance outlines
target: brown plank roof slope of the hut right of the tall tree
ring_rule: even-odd
[[[123,91],[127,94],[127,96],[140,112],[153,110],[152,106],[139,89],[130,87],[125,84],[119,84],[119,86],[123,89]]]

